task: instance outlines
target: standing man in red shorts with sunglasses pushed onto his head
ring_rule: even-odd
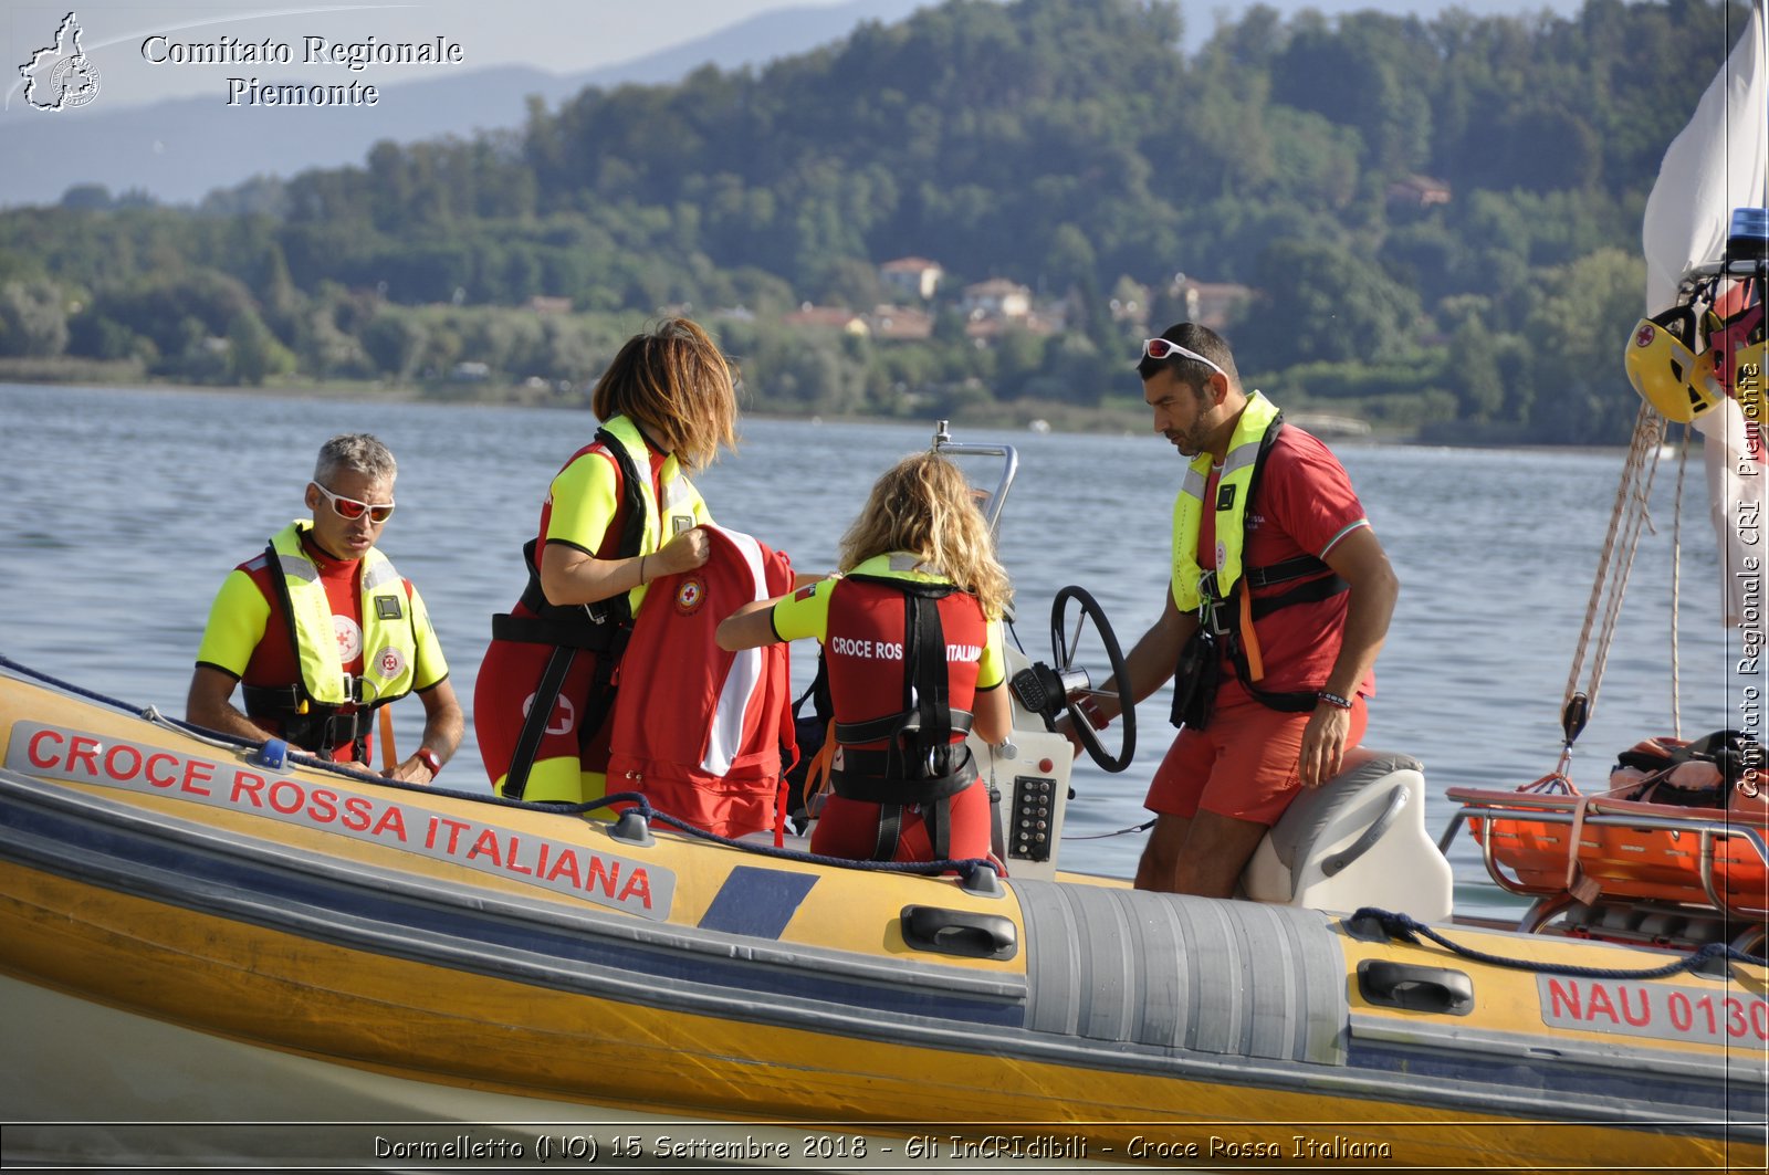
[[[1136,885],[1228,897],[1298,789],[1362,738],[1399,580],[1337,458],[1242,389],[1219,334],[1180,322],[1143,343],[1137,375],[1191,465],[1160,619],[1125,660],[1136,701],[1180,669]]]

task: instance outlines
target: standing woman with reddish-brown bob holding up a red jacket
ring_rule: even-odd
[[[474,731],[492,787],[524,800],[607,795],[609,713],[624,630],[660,575],[708,559],[688,481],[736,446],[731,363],[688,319],[626,340],[596,382],[601,428],[564,464],[522,552],[529,582],[492,618]]]

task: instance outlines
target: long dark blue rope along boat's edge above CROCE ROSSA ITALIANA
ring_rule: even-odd
[[[133,704],[129,704],[129,703],[126,703],[126,701],[122,701],[119,697],[110,697],[108,694],[99,694],[96,690],[88,690],[88,688],[85,688],[81,685],[74,685],[73,681],[62,681],[60,678],[55,678],[55,676],[46,674],[46,672],[42,672],[39,669],[32,669],[30,665],[16,662],[11,657],[7,657],[5,653],[0,653],[0,669],[9,669],[9,671],[23,674],[27,678],[35,678],[37,681],[42,681],[44,685],[51,685],[51,687],[65,692],[65,694],[73,694],[76,697],[85,697],[87,701],[99,703],[101,706],[110,706],[111,710],[120,710],[120,711],[134,715],[138,718],[147,718],[150,715],[157,715],[161,722],[166,722],[166,724],[170,724],[170,726],[173,726],[173,727],[177,727],[180,731],[189,731],[191,734],[196,734],[200,738],[212,738],[212,740],[225,741],[225,743],[230,743],[230,745],[239,747],[239,749],[260,749],[264,745],[264,743],[249,740],[249,738],[241,738],[237,734],[226,734],[223,731],[211,731],[205,726],[196,726],[193,722],[184,722],[182,718],[173,718],[170,715],[159,713],[152,706],[149,706],[149,708],[133,706]],[[400,791],[410,791],[410,793],[425,795],[425,796],[446,796],[449,800],[469,800],[472,803],[486,803],[486,805],[492,805],[492,807],[520,809],[520,810],[527,810],[527,812],[552,812],[552,814],[557,814],[557,816],[586,816],[589,812],[594,812],[596,809],[605,809],[610,803],[632,803],[633,807],[639,809],[640,816],[644,816],[644,819],[647,823],[662,821],[662,823],[669,825],[670,828],[685,832],[685,833],[688,833],[692,837],[701,837],[702,841],[713,841],[716,844],[725,844],[725,846],[731,846],[734,849],[743,849],[745,853],[761,853],[764,856],[777,856],[780,860],[798,860],[798,862],[808,862],[808,864],[814,864],[814,865],[835,865],[835,867],[840,867],[840,869],[870,869],[874,872],[909,872],[909,874],[927,874],[927,876],[938,876],[938,874],[943,874],[943,872],[957,872],[966,881],[969,881],[976,874],[978,869],[989,869],[991,872],[994,872],[994,864],[992,862],[984,860],[984,858],[975,858],[975,856],[964,858],[964,860],[936,860],[936,862],[863,862],[863,860],[849,860],[846,856],[823,856],[819,853],[803,853],[800,849],[775,848],[771,844],[755,844],[755,842],[750,842],[750,841],[734,841],[731,837],[720,837],[716,833],[706,832],[704,828],[697,828],[697,826],[690,825],[688,821],[678,819],[676,816],[670,816],[667,812],[656,810],[655,807],[651,807],[651,802],[644,795],[640,795],[637,791],[623,791],[623,793],[617,793],[617,795],[612,795],[612,796],[601,796],[600,800],[584,800],[580,803],[557,803],[557,802],[547,802],[547,800],[511,800],[511,798],[501,796],[497,793],[456,791],[456,789],[451,789],[451,787],[435,787],[435,786],[428,786],[428,784],[409,784],[405,780],[387,779],[386,775],[377,775],[373,772],[364,772],[364,770],[361,770],[357,766],[352,766],[352,764],[347,764],[347,763],[333,763],[329,759],[320,759],[320,757],[310,756],[310,754],[295,750],[295,749],[288,750],[288,759],[294,761],[294,763],[299,763],[301,766],[306,766],[306,768],[315,768],[315,770],[320,770],[320,772],[331,772],[333,775],[340,775],[343,779],[354,779],[354,780],[359,780],[359,782],[364,782],[364,784],[377,784],[380,787],[396,787]]]

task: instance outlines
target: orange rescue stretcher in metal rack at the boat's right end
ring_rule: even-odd
[[[1760,941],[1769,920],[1769,816],[1580,795],[1564,775],[1518,791],[1449,787],[1447,848],[1467,823],[1493,883],[1534,897],[1520,929],[1574,906],[1700,910]],[[1589,931],[1587,931],[1589,933]]]

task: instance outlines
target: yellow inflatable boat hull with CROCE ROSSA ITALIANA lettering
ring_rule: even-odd
[[[285,1120],[241,1076],[257,1064],[292,1122],[624,1122],[647,1148],[670,1134],[660,1117],[745,1138],[768,1124],[793,1163],[823,1166],[906,1148],[1765,1163],[1769,1002],[1750,964],[1539,973],[1366,941],[1309,910],[1088,878],[987,892],[662,828],[621,839],[540,807],[269,768],[5,676],[0,736],[0,973],[9,1007],[37,1009],[0,1039],[5,1117],[35,1124],[9,1131],[14,1157],[97,1145],[58,1125],[76,1120]],[[1541,966],[1666,961],[1454,934]],[[1461,977],[1444,1007],[1406,1007],[1444,971]],[[1401,975],[1401,1002],[1373,975]],[[69,1041],[80,1010],[111,1028]],[[212,1064],[180,1067],[177,1041]]]

